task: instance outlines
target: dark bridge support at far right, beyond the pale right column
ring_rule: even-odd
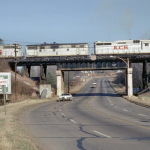
[[[143,62],[142,89],[148,88],[147,61]]]

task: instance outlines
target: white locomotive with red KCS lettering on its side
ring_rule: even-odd
[[[150,40],[97,41],[94,43],[94,51],[97,55],[150,53]]]

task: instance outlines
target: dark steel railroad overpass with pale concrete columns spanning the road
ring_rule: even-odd
[[[79,59],[80,58],[80,59]],[[64,71],[92,71],[92,70],[126,70],[127,95],[133,95],[132,63],[143,63],[143,89],[148,86],[147,63],[150,55],[101,55],[89,57],[27,57],[8,59],[10,66],[22,66],[24,74],[30,77],[31,66],[40,66],[40,82],[45,83],[47,66],[57,66],[57,95],[64,93]]]

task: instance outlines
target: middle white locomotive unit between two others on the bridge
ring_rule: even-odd
[[[88,55],[87,43],[27,45],[27,57]]]

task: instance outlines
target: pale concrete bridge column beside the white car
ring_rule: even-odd
[[[64,74],[62,71],[57,70],[56,76],[57,76],[57,96],[60,96],[62,93],[64,93]]]

